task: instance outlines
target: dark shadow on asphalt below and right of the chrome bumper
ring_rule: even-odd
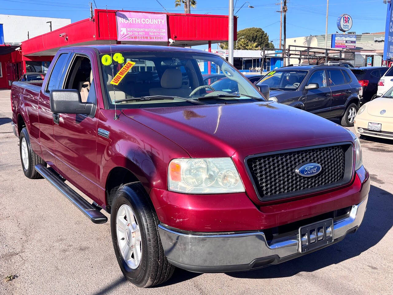
[[[371,186],[362,225],[358,231],[349,234],[343,241],[282,264],[255,271],[227,273],[227,275],[236,278],[280,278],[291,277],[301,271],[312,272],[358,256],[376,245],[392,226],[393,195]]]

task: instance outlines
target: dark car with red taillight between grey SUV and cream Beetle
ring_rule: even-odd
[[[386,66],[363,66],[351,68],[351,71],[363,87],[363,95],[360,103],[366,103],[377,97],[378,81],[386,73]]]

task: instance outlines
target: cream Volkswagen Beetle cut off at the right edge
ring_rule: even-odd
[[[393,88],[362,105],[354,127],[360,135],[393,139]]]

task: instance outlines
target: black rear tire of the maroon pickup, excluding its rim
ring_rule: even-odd
[[[26,164],[27,168],[25,167],[24,163],[23,163],[23,158],[22,158],[22,142],[25,141],[26,142],[26,147],[27,147],[27,159],[28,159],[28,163]],[[19,136],[19,153],[20,153],[20,162],[22,164],[22,170],[23,173],[26,177],[30,178],[30,179],[39,179],[42,178],[42,176],[40,175],[40,173],[38,173],[35,170],[35,165],[37,164],[42,164],[44,166],[46,166],[46,162],[44,160],[42,160],[31,148],[30,145],[30,137],[29,137],[29,133],[27,132],[26,127],[24,127],[22,129],[22,131],[20,131],[20,136]]]

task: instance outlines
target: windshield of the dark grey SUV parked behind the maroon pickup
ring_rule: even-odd
[[[269,85],[271,89],[279,90],[296,90],[300,86],[307,71],[272,71],[266,74],[258,84]]]

